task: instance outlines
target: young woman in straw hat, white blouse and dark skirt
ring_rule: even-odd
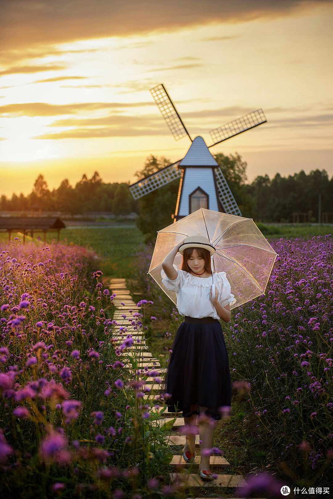
[[[177,252],[183,255],[181,269],[173,265]],[[225,272],[214,273],[212,296],[211,255],[215,248],[203,236],[189,236],[164,258],[163,285],[177,294],[177,308],[185,316],[172,344],[162,390],[171,394],[168,412],[182,411],[185,425],[195,425],[197,415],[212,418],[212,425],[200,425],[201,449],[213,446],[219,408],[231,406],[231,378],[228,352],[219,319],[230,321],[231,294]],[[176,407],[175,407],[176,406]],[[201,452],[199,474],[211,479],[210,457]],[[183,458],[196,458],[195,435],[186,435]]]

